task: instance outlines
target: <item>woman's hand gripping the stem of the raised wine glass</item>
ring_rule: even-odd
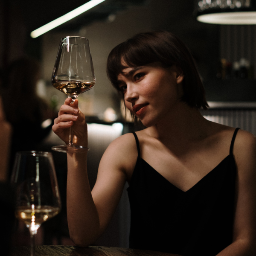
[[[67,98],[54,120],[52,130],[66,144],[69,143],[70,127],[73,125],[73,144],[87,147],[87,124],[84,114],[78,108],[78,100],[71,104]]]

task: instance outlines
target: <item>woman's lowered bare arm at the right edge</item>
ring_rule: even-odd
[[[256,253],[256,138],[246,131],[239,130],[233,154],[238,170],[233,243],[217,256],[254,256]]]

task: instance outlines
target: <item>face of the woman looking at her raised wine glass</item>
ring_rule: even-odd
[[[164,68],[159,63],[127,67],[118,76],[125,106],[143,125],[150,127],[180,102],[183,73],[175,66]]]

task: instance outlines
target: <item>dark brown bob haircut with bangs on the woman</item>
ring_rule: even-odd
[[[205,90],[189,49],[174,34],[167,31],[146,32],[135,35],[117,45],[109,54],[107,75],[119,90],[117,76],[126,67],[138,67],[160,62],[163,67],[176,65],[184,74],[182,101],[198,109],[207,109]]]

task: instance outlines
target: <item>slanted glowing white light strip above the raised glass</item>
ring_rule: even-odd
[[[41,26],[38,29],[35,29],[30,33],[30,36],[32,38],[37,38],[40,35],[43,35],[44,33],[48,32],[51,29],[54,29],[55,27],[67,22],[68,20],[73,19],[74,17],[82,14],[83,12],[88,11],[89,9],[93,8],[94,6],[98,5],[99,3],[104,2],[105,0],[90,0],[89,2],[83,4],[82,6],[74,9],[71,12],[68,12],[67,14],[57,18],[56,20],[52,20],[51,22],[45,24],[44,26]]]

